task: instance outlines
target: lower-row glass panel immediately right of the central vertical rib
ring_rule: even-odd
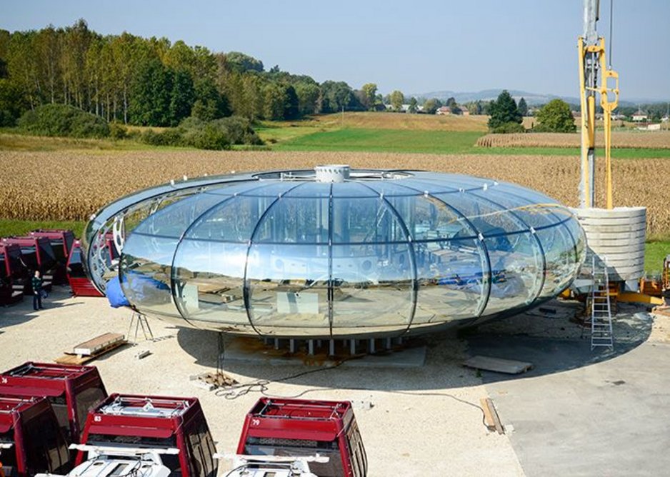
[[[333,246],[333,334],[403,330],[412,275],[407,243]]]

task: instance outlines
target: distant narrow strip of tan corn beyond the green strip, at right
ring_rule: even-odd
[[[602,131],[596,144],[604,144]],[[486,134],[477,140],[479,147],[579,147],[581,136],[570,133]],[[670,149],[670,131],[615,131],[612,148]]]

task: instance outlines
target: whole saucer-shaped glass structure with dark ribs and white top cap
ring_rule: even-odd
[[[283,338],[401,336],[509,316],[564,291],[585,248],[571,211],[535,191],[347,166],[207,177],[109,204],[84,241],[103,293],[114,263],[98,257],[111,230],[121,288],[141,313]]]

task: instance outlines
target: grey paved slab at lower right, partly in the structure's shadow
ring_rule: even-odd
[[[471,352],[533,361],[482,373],[526,476],[659,476],[670,466],[670,345],[591,352],[588,340],[479,336]]]

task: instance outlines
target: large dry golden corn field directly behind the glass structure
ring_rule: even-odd
[[[526,134],[524,136],[535,136]],[[510,181],[577,205],[579,160],[566,156],[436,156],[349,152],[0,152],[0,218],[86,220],[109,201],[171,179],[317,164],[426,169]],[[670,162],[614,161],[616,206],[646,206],[649,234],[670,234]],[[604,171],[599,171],[599,178]],[[604,186],[599,186],[604,192]],[[604,196],[599,197],[604,204]]]

